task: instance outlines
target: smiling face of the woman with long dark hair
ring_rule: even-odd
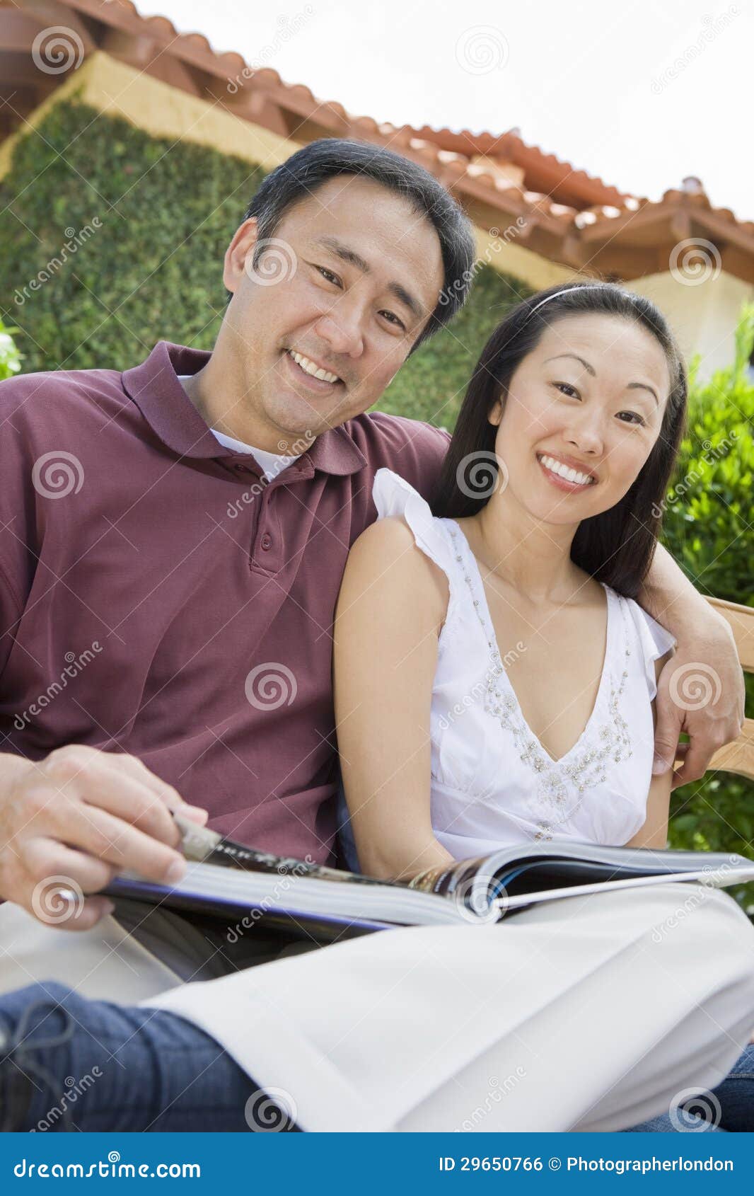
[[[558,524],[613,507],[660,435],[669,391],[664,352],[645,328],[560,317],[514,372],[504,410],[498,399],[489,416],[509,496]]]

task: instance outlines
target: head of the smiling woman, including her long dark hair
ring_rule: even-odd
[[[609,283],[552,287],[514,307],[485,344],[433,513],[482,515],[494,492],[464,478],[474,453],[495,470],[502,463],[515,493],[526,438],[527,460],[535,458],[538,475],[553,486],[540,457],[594,476],[597,484],[588,493],[575,488],[583,504],[570,556],[589,575],[636,597],[657,543],[686,403],[680,350],[649,299]],[[556,524],[572,521],[568,504],[552,506],[547,489],[537,494],[535,504],[551,504]]]

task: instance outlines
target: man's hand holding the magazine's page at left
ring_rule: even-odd
[[[84,895],[121,868],[160,884],[183,875],[172,808],[207,820],[134,756],[81,744],[38,763],[0,755],[0,898],[45,925],[90,929],[112,903]]]

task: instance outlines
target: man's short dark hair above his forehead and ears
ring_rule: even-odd
[[[442,292],[427,325],[411,347],[413,353],[466,303],[476,256],[468,216],[423,166],[368,141],[323,138],[298,150],[266,175],[244,219],[256,216],[259,240],[269,240],[275,237],[286,212],[338,175],[360,175],[403,196],[437,233],[445,271]],[[255,266],[263,251],[264,246],[255,250]]]

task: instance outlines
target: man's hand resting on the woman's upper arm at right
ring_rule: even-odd
[[[673,774],[674,789],[704,776],[718,748],[737,739],[743,725],[743,673],[732,631],[709,603],[705,606],[682,631],[670,627],[678,648],[657,682],[652,773],[682,759]],[[682,731],[691,743],[679,744]]]

